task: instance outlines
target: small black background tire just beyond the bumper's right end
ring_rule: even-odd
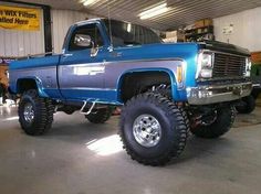
[[[239,114],[251,114],[255,108],[255,99],[252,95],[243,97],[241,104],[236,107]]]

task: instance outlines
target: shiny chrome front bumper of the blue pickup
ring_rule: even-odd
[[[210,105],[237,100],[249,96],[251,90],[251,82],[222,86],[199,86],[187,88],[187,98],[190,105]]]

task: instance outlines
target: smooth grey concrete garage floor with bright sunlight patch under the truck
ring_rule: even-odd
[[[0,107],[1,194],[261,192],[261,108],[239,116],[220,139],[191,136],[180,159],[163,168],[138,164],[122,151],[117,117],[92,125],[61,112],[46,136],[29,137],[15,112]]]

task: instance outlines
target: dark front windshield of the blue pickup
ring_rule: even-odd
[[[104,23],[108,31],[108,20],[104,20]],[[111,20],[111,29],[114,46],[161,43],[161,40],[154,31],[142,25]]]

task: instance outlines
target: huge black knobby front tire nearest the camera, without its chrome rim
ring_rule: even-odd
[[[133,132],[135,119],[144,114],[155,117],[161,127],[159,142],[150,148],[138,143]],[[164,165],[185,149],[188,134],[185,120],[180,109],[160,94],[148,91],[135,96],[122,109],[119,136],[124,149],[133,160],[139,163]]]

